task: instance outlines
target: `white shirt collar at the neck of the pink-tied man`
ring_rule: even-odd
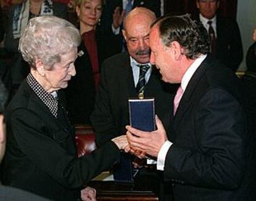
[[[207,57],[206,54],[200,55],[197,59],[194,60],[194,62],[190,65],[190,67],[187,68],[187,71],[181,80],[181,88],[183,89],[183,91],[186,90],[187,84],[189,84],[189,81],[191,80],[195,71],[202,64],[203,60],[205,60],[206,57]]]

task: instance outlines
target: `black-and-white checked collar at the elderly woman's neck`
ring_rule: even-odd
[[[58,114],[58,93],[56,91],[52,93],[46,92],[31,73],[27,76],[27,83],[56,118]]]

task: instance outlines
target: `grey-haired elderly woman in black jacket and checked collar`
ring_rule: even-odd
[[[53,200],[77,200],[83,186],[127,146],[126,136],[117,137],[77,158],[61,89],[75,75],[79,43],[79,31],[58,17],[35,17],[25,28],[19,48],[30,74],[7,107],[3,184]]]

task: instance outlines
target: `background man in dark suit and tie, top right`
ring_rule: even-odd
[[[236,72],[242,62],[242,41],[239,27],[235,20],[217,14],[219,6],[220,0],[197,0],[197,8],[200,12],[197,20],[203,23],[210,35],[214,35],[211,53],[233,72]],[[210,30],[213,30],[212,34]]]

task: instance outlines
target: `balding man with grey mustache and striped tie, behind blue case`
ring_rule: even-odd
[[[114,55],[103,62],[100,88],[91,117],[98,146],[126,133],[125,126],[129,124],[128,99],[138,97],[139,93],[145,97],[155,97],[156,114],[163,120],[165,128],[170,122],[172,94],[167,89],[168,85],[160,80],[158,70],[150,64],[148,38],[150,25],[155,18],[151,10],[143,7],[130,11],[122,30],[128,52]],[[145,87],[139,91],[141,65],[148,65],[148,69]]]

